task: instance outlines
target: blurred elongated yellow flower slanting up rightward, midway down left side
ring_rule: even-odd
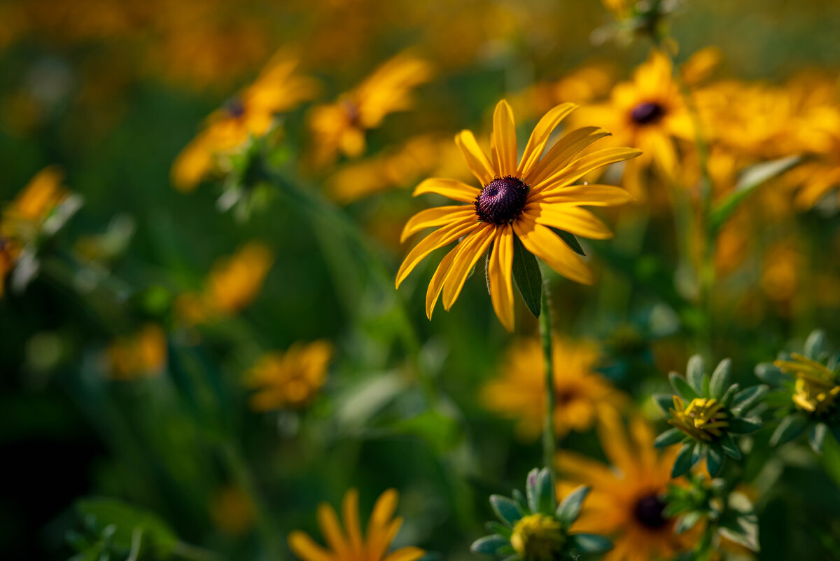
[[[178,316],[186,324],[195,325],[239,312],[260,293],[273,260],[265,245],[245,244],[231,257],[213,265],[201,293],[187,292],[178,297]]]

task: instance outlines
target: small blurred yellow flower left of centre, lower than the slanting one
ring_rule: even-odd
[[[327,378],[333,345],[319,340],[294,343],[285,353],[265,354],[248,375],[255,388],[251,408],[271,411],[283,407],[302,407],[312,401]]]

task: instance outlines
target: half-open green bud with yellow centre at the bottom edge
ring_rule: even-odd
[[[501,524],[488,522],[491,535],[476,540],[471,549],[506,561],[571,561],[580,553],[603,553],[611,547],[606,537],[571,530],[588,492],[580,486],[556,505],[549,469],[532,469],[525,495],[519,490],[512,499],[491,495]]]

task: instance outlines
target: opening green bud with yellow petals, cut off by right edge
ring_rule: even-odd
[[[809,445],[821,454],[829,430],[840,442],[840,375],[837,357],[825,349],[825,333],[814,331],[803,354],[781,354],[773,363],[759,364],[755,374],[779,388],[768,398],[780,417],[770,443],[780,446],[807,431]]]

